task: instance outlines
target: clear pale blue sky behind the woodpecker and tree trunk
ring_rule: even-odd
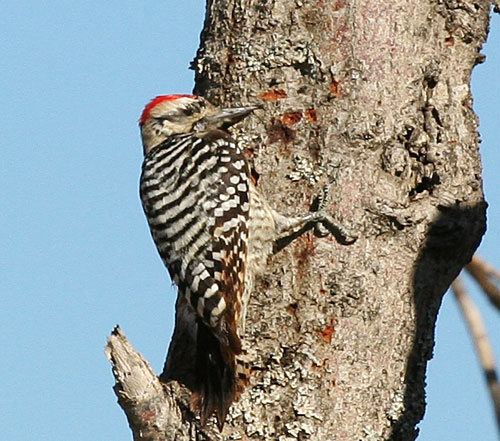
[[[112,391],[116,323],[159,372],[174,296],[138,199],[137,118],[190,92],[200,0],[5,2],[0,15],[0,433],[5,441],[131,439]],[[496,177],[500,20],[474,71],[489,230],[500,265]],[[498,313],[477,293],[490,334]],[[495,350],[500,357],[500,339]],[[419,440],[496,440],[489,397],[458,308],[446,296]]]

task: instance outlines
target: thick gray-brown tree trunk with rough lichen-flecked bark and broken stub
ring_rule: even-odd
[[[127,404],[133,370],[120,376],[113,362],[135,440],[415,439],[442,296],[485,231],[470,77],[489,9],[208,0],[195,92],[263,104],[235,133],[260,191],[300,215],[330,183],[329,213],[359,238],[343,246],[309,232],[270,259],[244,336],[251,386],[222,434],[198,427],[179,385]],[[119,341],[115,331],[112,361]]]

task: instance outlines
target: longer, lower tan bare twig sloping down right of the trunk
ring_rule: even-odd
[[[495,415],[497,419],[497,428],[500,432],[500,384],[498,383],[498,375],[495,366],[495,356],[491,349],[488,335],[486,334],[486,327],[484,326],[483,319],[479,309],[467,294],[465,287],[460,277],[457,277],[451,284],[455,298],[457,299],[462,314],[467,322],[469,331],[476,347],[476,352],[479,357],[479,362],[483,368],[488,389],[490,391]]]

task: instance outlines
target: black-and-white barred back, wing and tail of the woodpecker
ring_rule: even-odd
[[[242,352],[250,185],[243,152],[222,130],[168,137],[146,155],[141,175],[158,251],[198,316],[194,407],[202,422],[215,411],[219,426],[242,390],[235,357]]]

